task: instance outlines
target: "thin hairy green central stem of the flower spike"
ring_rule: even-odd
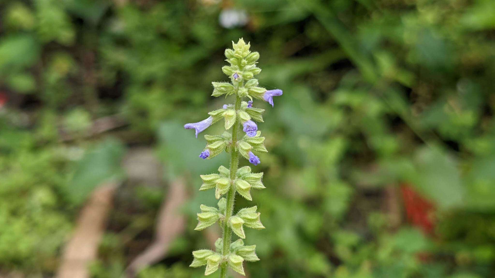
[[[241,109],[241,97],[236,95],[236,114]],[[236,122],[232,128],[232,148],[230,156],[230,181],[231,185],[227,192],[227,208],[225,210],[225,221],[223,224],[223,248],[222,258],[225,258],[229,254],[230,243],[232,240],[232,231],[229,226],[229,219],[232,217],[234,211],[234,199],[236,197],[236,188],[234,186],[234,180],[236,179],[237,168],[239,167],[239,153],[236,151],[237,134],[239,133],[239,121],[236,116]],[[227,262],[223,262],[221,265],[220,278],[227,277]]]

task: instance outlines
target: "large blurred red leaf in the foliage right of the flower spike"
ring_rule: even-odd
[[[433,234],[435,228],[435,206],[409,185],[401,185],[402,200],[407,219],[413,226],[421,228],[427,234]]]

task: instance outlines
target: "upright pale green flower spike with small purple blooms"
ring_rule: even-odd
[[[229,66],[222,71],[229,76],[231,82],[213,82],[213,96],[233,95],[233,104],[224,104],[222,108],[209,112],[209,117],[198,123],[186,124],[186,129],[195,129],[198,133],[222,118],[227,130],[222,135],[205,135],[206,147],[199,155],[202,159],[210,159],[223,151],[230,153],[230,169],[220,166],[218,173],[201,175],[203,184],[199,190],[214,189],[215,197],[219,199],[217,207],[201,205],[198,213],[198,226],[195,230],[203,230],[215,223],[223,229],[222,238],[218,238],[213,250],[197,250],[193,252],[194,260],[191,267],[205,266],[204,275],[210,275],[220,269],[220,278],[225,278],[227,269],[244,275],[243,262],[258,261],[255,253],[256,245],[244,245],[246,238],[244,228],[264,229],[259,219],[256,206],[243,208],[234,214],[236,193],[251,201],[250,189],[265,188],[261,179],[263,173],[252,173],[249,166],[239,168],[239,157],[246,158],[251,164],[258,165],[259,158],[255,152],[266,152],[264,137],[258,131],[256,122],[263,122],[261,113],[264,109],[254,108],[253,99],[270,103],[273,107],[273,97],[281,95],[281,90],[269,90],[258,86],[254,76],[261,69],[256,67],[258,52],[249,51],[249,43],[240,39],[237,44],[232,42],[234,49],[225,50]],[[243,101],[243,99],[248,100]],[[241,129],[242,132],[241,133]],[[232,130],[232,132],[229,132]],[[232,232],[240,239],[232,242]],[[241,239],[242,238],[242,239]]]

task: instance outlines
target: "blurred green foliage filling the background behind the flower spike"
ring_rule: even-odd
[[[260,84],[284,90],[276,110],[256,103],[270,152],[254,169],[267,229],[247,231],[251,277],[493,277],[494,3],[1,0],[0,275],[53,275],[77,206],[123,178],[126,147],[156,148],[169,178],[224,163],[199,159],[204,140],[182,125],[224,104],[210,82],[244,37]],[[229,10],[247,23],[222,26]],[[110,115],[126,122],[115,139],[89,135]],[[194,181],[186,231],[212,205]],[[399,185],[433,204],[433,233],[408,221]],[[129,234],[150,238],[156,209],[119,218],[129,226],[106,235],[94,277],[119,277]],[[185,232],[139,277],[202,277],[186,266],[204,241]]]

